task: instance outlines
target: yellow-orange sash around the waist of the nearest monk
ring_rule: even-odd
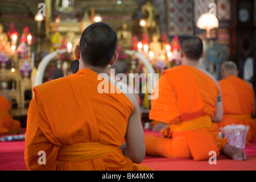
[[[77,143],[59,148],[57,160],[79,162],[101,158],[119,149],[118,146],[98,142]]]

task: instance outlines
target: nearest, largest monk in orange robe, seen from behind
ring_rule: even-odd
[[[93,23],[75,47],[80,71],[35,86],[24,154],[29,170],[150,170],[139,164],[145,148],[134,94],[110,92],[115,85],[101,75],[117,61],[116,45],[111,27]]]

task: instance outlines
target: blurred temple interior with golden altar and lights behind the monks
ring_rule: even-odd
[[[1,1],[0,92],[11,97],[13,117],[23,127],[33,86],[52,80],[56,70],[67,76],[82,31],[99,21],[116,32],[119,60],[127,63],[129,73],[148,70],[126,50],[141,53],[160,75],[181,64],[180,40],[196,35],[204,43],[202,68],[220,80],[221,63],[234,61],[239,77],[256,86],[256,0]],[[47,56],[51,61],[38,81],[40,63]],[[143,123],[150,110],[147,95],[139,94]]]

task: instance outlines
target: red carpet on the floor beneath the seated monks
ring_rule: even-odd
[[[145,134],[155,134],[145,130]],[[0,171],[27,170],[24,163],[24,141],[0,142]],[[256,139],[244,150],[246,161],[235,161],[221,155],[217,164],[208,161],[195,162],[193,159],[167,159],[146,156],[142,164],[156,171],[256,171]]]

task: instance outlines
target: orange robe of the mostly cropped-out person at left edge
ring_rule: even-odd
[[[7,98],[0,95],[0,134],[20,133],[21,125],[10,114],[11,104]]]

